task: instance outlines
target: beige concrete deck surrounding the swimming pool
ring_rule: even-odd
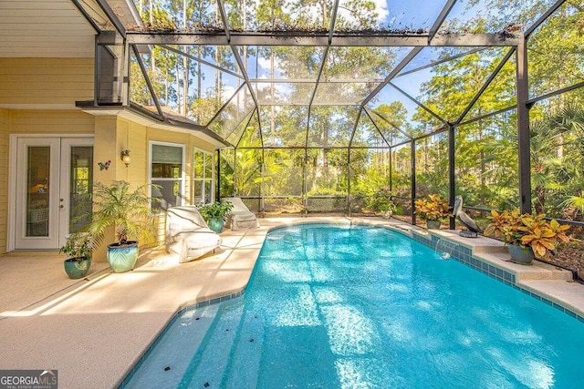
[[[163,248],[151,249],[141,252],[134,271],[113,273],[97,262],[80,281],[68,279],[57,252],[9,253],[0,258],[0,369],[57,370],[60,389],[115,387],[175,312],[245,289],[267,231],[299,222],[427,234],[393,219],[262,219],[259,229],[223,232],[221,248],[200,260],[179,264]],[[471,247],[477,258],[516,274],[524,290],[584,316],[584,285],[567,282],[568,271],[511,263],[497,241],[462,239],[448,230],[430,234]]]

